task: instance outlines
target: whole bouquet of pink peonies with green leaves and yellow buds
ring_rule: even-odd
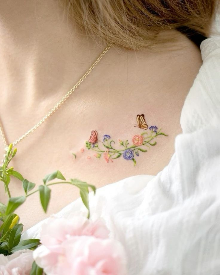
[[[16,152],[10,144],[0,166],[0,181],[9,197],[7,205],[0,202],[0,275],[125,275],[123,246],[109,238],[103,220],[90,217],[89,188],[94,193],[96,188],[78,179],[66,181],[58,170],[46,175],[43,184],[36,189],[36,184],[9,167]],[[22,181],[23,196],[11,197],[9,183],[13,177]],[[54,182],[55,179],[59,181]],[[16,209],[28,196],[39,192],[40,203],[46,212],[51,196],[49,186],[53,184],[71,184],[79,188],[88,216],[70,219],[51,216],[42,225],[40,239],[21,240],[23,224],[19,222]]]

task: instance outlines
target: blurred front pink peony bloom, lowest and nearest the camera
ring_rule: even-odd
[[[60,248],[54,253],[42,245],[33,252],[47,275],[126,275],[124,250],[115,240],[71,236]]]

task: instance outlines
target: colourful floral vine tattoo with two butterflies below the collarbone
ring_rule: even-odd
[[[137,115],[137,124],[135,127],[140,129],[148,129],[144,115]],[[155,146],[157,142],[154,140],[158,135],[164,135],[161,129],[158,130],[157,126],[150,126],[146,132],[142,132],[140,135],[134,135],[132,137],[132,144],[129,144],[128,140],[120,140],[118,146],[111,139],[110,135],[103,135],[102,140],[98,140],[98,132],[96,130],[91,131],[90,138],[85,142],[88,150],[95,151],[94,157],[103,158],[107,163],[113,162],[113,160],[123,157],[126,161],[133,161],[134,166],[136,165],[136,157],[139,156],[140,152],[147,152],[151,146]],[[83,151],[82,151],[83,150]],[[84,152],[84,149],[81,149]],[[75,154],[73,154],[75,156]],[[90,159],[91,157],[88,157]]]

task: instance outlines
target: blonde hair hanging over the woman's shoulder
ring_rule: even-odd
[[[175,41],[181,26],[204,36],[219,0],[61,0],[74,22],[90,36],[133,50],[155,48]]]

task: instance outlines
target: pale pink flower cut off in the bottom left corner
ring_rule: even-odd
[[[29,249],[16,251],[9,256],[0,254],[0,274],[29,275],[33,261],[33,251]]]

